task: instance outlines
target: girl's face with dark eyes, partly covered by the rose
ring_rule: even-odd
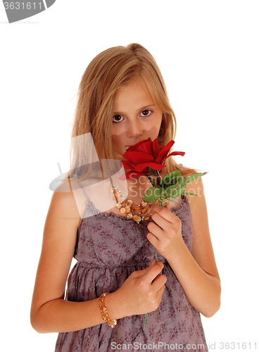
[[[111,128],[117,158],[122,160],[129,146],[149,137],[156,139],[161,122],[162,110],[137,80],[120,87],[115,95]]]

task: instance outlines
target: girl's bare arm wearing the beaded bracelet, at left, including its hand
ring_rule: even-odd
[[[72,192],[54,192],[32,297],[31,323],[37,332],[70,332],[103,323],[99,298],[85,302],[63,299],[79,223]],[[133,272],[120,289],[106,296],[110,320],[158,308],[166,281],[158,275],[162,268],[162,263],[153,263],[148,270]]]

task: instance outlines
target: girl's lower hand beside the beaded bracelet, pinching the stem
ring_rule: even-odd
[[[122,287],[113,294],[116,306],[120,306],[122,317],[139,315],[156,310],[162,299],[167,278],[159,275],[164,265],[152,260],[144,270],[137,270],[126,279]]]

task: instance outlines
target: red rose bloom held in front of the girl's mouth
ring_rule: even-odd
[[[126,178],[146,175],[149,173],[149,168],[153,170],[165,168],[163,163],[169,156],[184,156],[184,152],[182,151],[173,151],[168,155],[173,144],[175,144],[175,142],[170,141],[166,146],[159,146],[157,138],[153,142],[151,138],[149,138],[134,146],[130,146],[126,153],[123,154],[126,161],[122,161],[124,168],[131,170],[125,174]]]

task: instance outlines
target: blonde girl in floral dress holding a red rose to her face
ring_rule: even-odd
[[[200,313],[217,312],[221,289],[201,179],[187,185],[198,196],[153,205],[151,219],[139,223],[116,207],[141,204],[151,183],[146,176],[121,181],[115,161],[149,137],[168,144],[175,128],[163,77],[143,46],[113,47],[91,61],[80,83],[71,168],[53,192],[32,298],[32,327],[59,332],[56,352],[208,351]],[[89,136],[94,145],[84,143]],[[165,163],[162,177],[196,172],[172,157]]]

